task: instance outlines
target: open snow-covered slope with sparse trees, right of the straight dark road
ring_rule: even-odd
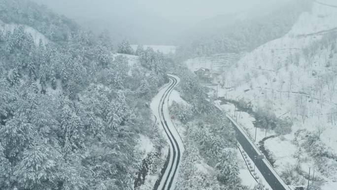
[[[256,142],[269,137],[265,149],[284,181],[306,186],[311,168],[317,190],[335,190],[337,180],[335,3],[313,2],[289,33],[225,69],[219,90],[254,117],[254,124],[244,114],[237,121]]]

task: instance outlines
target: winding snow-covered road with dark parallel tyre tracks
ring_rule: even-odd
[[[172,123],[169,115],[169,96],[180,79],[177,76],[168,75],[169,84],[162,88],[151,103],[154,115],[159,118],[159,124],[163,127],[165,136],[169,143],[169,164],[165,168],[165,173],[161,179],[157,190],[174,190],[180,157],[183,149],[182,140]]]

